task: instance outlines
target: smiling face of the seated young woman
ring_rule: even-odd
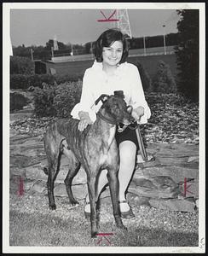
[[[123,55],[123,44],[120,41],[115,41],[109,47],[102,49],[102,63],[107,66],[116,66]]]

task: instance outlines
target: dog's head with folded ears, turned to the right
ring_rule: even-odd
[[[114,95],[111,96],[102,94],[95,101],[95,104],[99,101],[103,103],[99,112],[108,119],[113,119],[116,124],[122,123],[124,125],[130,125],[135,121],[131,115],[132,107],[127,106],[124,101],[123,90],[116,90],[114,91]]]

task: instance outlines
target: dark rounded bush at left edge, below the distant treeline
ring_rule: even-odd
[[[10,74],[34,74],[35,64],[26,57],[10,56]]]

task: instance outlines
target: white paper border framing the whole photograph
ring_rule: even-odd
[[[199,9],[199,247],[9,246],[10,9]],[[3,3],[3,253],[205,253],[205,3]]]

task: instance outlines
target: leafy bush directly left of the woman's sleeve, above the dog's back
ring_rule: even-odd
[[[69,117],[72,108],[79,102],[82,83],[72,82],[34,91],[35,114],[39,117]]]

